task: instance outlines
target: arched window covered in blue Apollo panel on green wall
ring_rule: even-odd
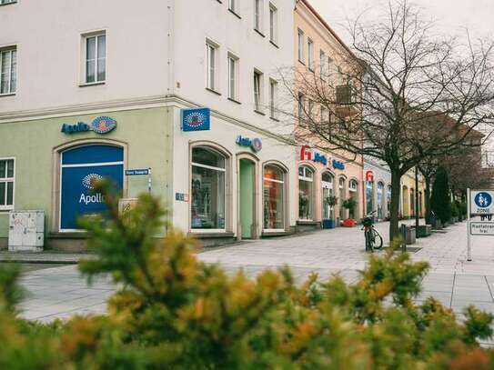
[[[124,149],[116,145],[80,145],[61,154],[60,230],[78,229],[81,215],[106,210],[105,200],[94,193],[94,182],[109,179],[118,189],[124,187]]]

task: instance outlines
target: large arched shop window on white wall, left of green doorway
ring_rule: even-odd
[[[191,228],[225,230],[227,159],[207,146],[192,149]]]

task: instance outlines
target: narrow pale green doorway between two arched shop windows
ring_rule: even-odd
[[[239,217],[242,227],[242,239],[250,239],[254,237],[254,225],[256,224],[255,217],[255,201],[256,201],[256,186],[255,186],[256,170],[254,162],[248,159],[240,159],[240,175],[239,175]]]

